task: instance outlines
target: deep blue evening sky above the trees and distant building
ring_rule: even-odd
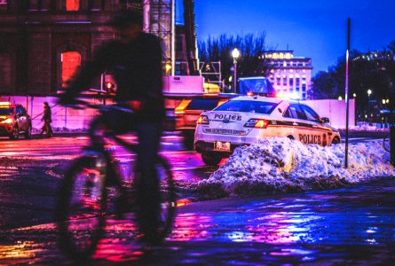
[[[178,21],[182,16],[177,0]],[[209,35],[246,35],[265,31],[275,50],[293,50],[312,59],[313,70],[328,70],[347,48],[347,18],[351,48],[382,50],[395,41],[393,0],[194,0],[198,41]]]

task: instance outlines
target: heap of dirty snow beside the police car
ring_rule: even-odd
[[[349,145],[344,168],[344,145],[303,145],[288,137],[270,137],[237,148],[198,188],[205,194],[232,195],[303,192],[395,176],[383,141]]]

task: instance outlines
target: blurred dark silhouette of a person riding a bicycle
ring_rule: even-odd
[[[72,103],[82,90],[89,88],[92,79],[103,72],[114,74],[117,90],[115,100],[134,111],[132,117],[113,111],[104,117],[106,126],[115,132],[135,131],[138,136],[137,203],[138,225],[142,239],[148,243],[160,241],[160,194],[155,159],[162,136],[165,117],[162,94],[162,48],[155,35],[142,31],[143,16],[122,10],[115,13],[109,25],[117,38],[104,43],[91,61],[69,82],[59,103]]]

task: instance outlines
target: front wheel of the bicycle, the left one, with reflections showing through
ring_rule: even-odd
[[[83,156],[59,184],[56,219],[59,247],[75,259],[90,256],[102,238],[107,200],[104,154]]]

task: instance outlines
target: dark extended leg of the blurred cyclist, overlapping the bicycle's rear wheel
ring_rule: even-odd
[[[136,124],[138,134],[138,223],[146,240],[159,239],[157,229],[160,215],[159,177],[156,172],[156,159],[162,136],[162,123],[140,122]]]

